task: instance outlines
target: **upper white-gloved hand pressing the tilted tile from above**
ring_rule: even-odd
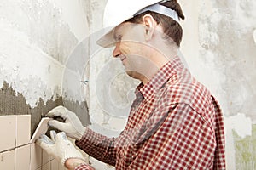
[[[84,134],[85,127],[79,120],[79,117],[72,111],[67,110],[64,106],[57,106],[49,111],[46,116],[55,117],[61,116],[65,122],[59,122],[56,120],[49,121],[50,127],[55,127],[62,132],[65,132],[68,137],[80,140]]]

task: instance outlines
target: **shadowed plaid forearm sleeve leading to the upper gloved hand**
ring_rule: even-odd
[[[88,127],[85,129],[82,139],[76,141],[76,145],[88,155],[112,166],[115,165],[116,161],[114,143],[114,138],[95,133]]]

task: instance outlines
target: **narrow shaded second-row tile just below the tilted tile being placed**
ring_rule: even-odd
[[[42,149],[38,144],[30,144],[30,170],[42,167]]]

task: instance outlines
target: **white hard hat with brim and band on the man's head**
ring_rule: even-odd
[[[115,44],[113,38],[114,27],[146,11],[164,14],[173,20],[179,21],[175,10],[160,5],[160,3],[165,3],[166,1],[168,0],[108,0],[103,18],[103,26],[108,27],[108,33],[102,36],[96,43],[105,48],[113,47]]]

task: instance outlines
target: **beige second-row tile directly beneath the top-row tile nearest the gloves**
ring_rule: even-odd
[[[29,169],[30,145],[15,148],[15,170]]]

